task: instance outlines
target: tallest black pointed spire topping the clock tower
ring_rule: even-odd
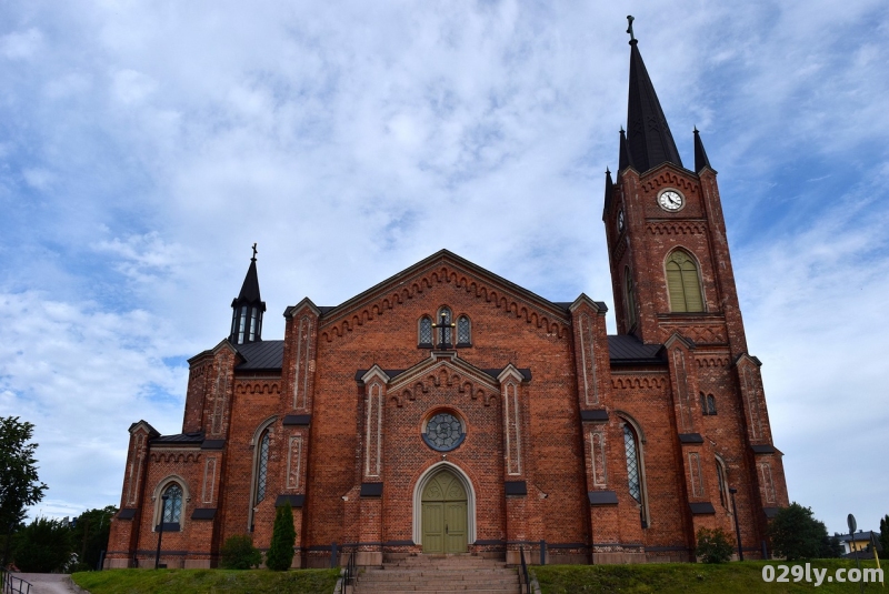
[[[682,167],[667,118],[655,93],[655,85],[639,53],[639,40],[632,33],[630,21],[630,94],[627,105],[627,135],[632,165],[640,172],[661,163]]]

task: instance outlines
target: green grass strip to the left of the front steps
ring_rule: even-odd
[[[339,570],[107,570],[76,573],[92,594],[332,594]]]

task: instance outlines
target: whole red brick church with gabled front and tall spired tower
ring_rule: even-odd
[[[130,426],[106,566],[153,567],[161,527],[162,563],[216,566],[229,536],[267,548],[288,503],[303,567],[343,545],[361,564],[693,561],[736,514],[758,557],[788,494],[717,174],[697,130],[682,165],[630,46],[602,214],[618,334],[602,302],[443,250],[340,305],[303,299],[267,341],[254,254],[229,336],[189,360],[182,432]]]

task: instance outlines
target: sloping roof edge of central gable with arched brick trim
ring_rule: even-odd
[[[449,265],[451,268],[459,269],[461,272],[466,273],[468,276],[473,278],[475,280],[483,281],[486,284],[493,285],[496,289],[499,289],[502,292],[511,293],[515,298],[520,299],[531,305],[539,308],[552,316],[558,318],[562,323],[569,322],[569,316],[567,315],[568,312],[566,308],[560,306],[548,299],[545,299],[527,289],[519,286],[516,283],[512,283],[493,272],[486,270],[477,264],[473,264],[469,260],[457,255],[453,252],[448,250],[441,250],[439,252],[433,253],[429,258],[420,260],[412,266],[409,266],[401,272],[386,279],[379,284],[371,286],[367,291],[359,293],[358,295],[353,296],[352,299],[337,305],[336,308],[318,308],[321,310],[322,320],[336,320],[341,315],[346,315],[347,313],[351,313],[356,310],[361,309],[366,304],[371,301],[376,301],[383,295],[387,295],[390,291],[394,290],[397,286],[403,284],[408,280],[413,280],[417,276],[422,275],[427,271],[433,271],[441,265]]]

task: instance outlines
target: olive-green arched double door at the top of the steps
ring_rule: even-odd
[[[451,471],[441,470],[422,493],[423,553],[466,553],[467,493]]]

